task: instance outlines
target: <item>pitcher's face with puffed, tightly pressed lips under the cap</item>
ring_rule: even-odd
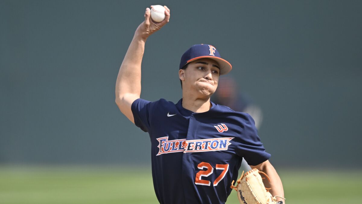
[[[184,82],[182,89],[210,97],[218,87],[219,64],[209,58],[201,58],[190,62],[185,70],[180,70],[180,79]]]

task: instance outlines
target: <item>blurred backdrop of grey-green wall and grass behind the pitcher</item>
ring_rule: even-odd
[[[0,203],[156,203],[148,135],[114,102],[153,4],[171,19],[147,40],[142,98],[177,102],[182,53],[212,44],[263,111],[287,203],[359,203],[357,0],[0,1]]]

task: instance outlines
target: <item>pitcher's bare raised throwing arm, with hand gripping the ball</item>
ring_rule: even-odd
[[[151,8],[152,7],[153,6],[151,6]],[[150,8],[146,8],[146,12],[144,13],[145,19],[136,29],[121,68],[119,68],[115,85],[115,102],[119,110],[121,110],[132,123],[134,123],[134,118],[131,105],[141,94],[141,63],[144,44],[152,33],[168,23],[170,10],[166,6],[164,7],[166,9],[166,17],[165,20],[160,23],[155,23],[151,20]]]

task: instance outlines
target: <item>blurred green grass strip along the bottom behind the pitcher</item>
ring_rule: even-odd
[[[288,204],[361,203],[361,171],[278,171]],[[235,191],[227,204],[238,204]],[[150,167],[0,167],[0,204],[158,203]]]

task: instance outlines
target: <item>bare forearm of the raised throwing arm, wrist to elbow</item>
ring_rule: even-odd
[[[116,82],[116,99],[123,94],[141,94],[141,63],[146,38],[135,33],[119,68]]]

